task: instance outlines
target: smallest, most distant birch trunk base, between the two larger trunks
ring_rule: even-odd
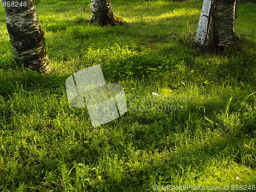
[[[110,0],[92,0],[92,12],[92,23],[98,23],[101,26],[115,25],[116,20]]]

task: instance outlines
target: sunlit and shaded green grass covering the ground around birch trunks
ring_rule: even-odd
[[[237,43],[215,55],[193,49],[202,1],[113,0],[115,27],[88,24],[89,4],[38,3],[48,75],[13,61],[0,8],[0,190],[255,185],[256,5],[240,4]],[[97,64],[129,108],[92,127],[65,81]]]

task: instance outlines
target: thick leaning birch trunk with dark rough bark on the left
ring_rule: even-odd
[[[35,0],[3,0],[3,4],[15,61],[34,71],[50,71]]]

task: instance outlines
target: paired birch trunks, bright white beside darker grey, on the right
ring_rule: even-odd
[[[234,44],[234,19],[237,0],[204,0],[196,44],[222,51]]]

